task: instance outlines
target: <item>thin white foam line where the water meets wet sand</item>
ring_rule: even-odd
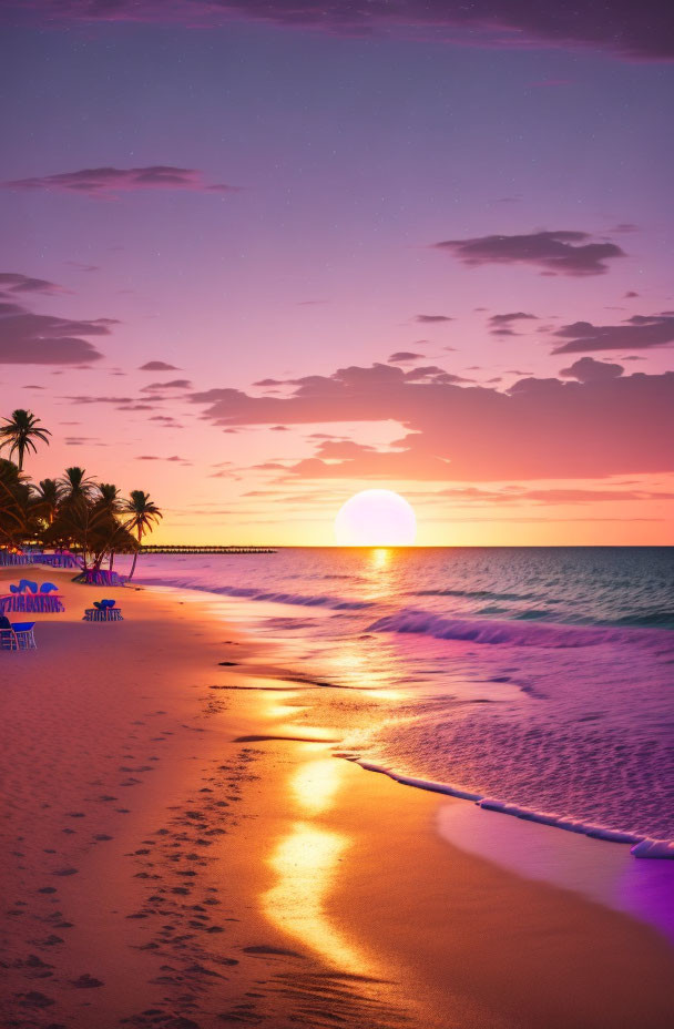
[[[553,826],[554,828],[565,829],[569,833],[580,833],[584,836],[591,836],[593,839],[603,839],[607,843],[630,844],[630,850],[634,857],[674,859],[674,840],[672,839],[652,839],[649,836],[624,833],[621,829],[612,829],[593,822],[569,818],[564,815],[535,811],[531,807],[521,807],[519,804],[509,804],[507,801],[498,801],[493,797],[481,796],[479,793],[471,793],[468,789],[463,789],[461,786],[455,786],[450,783],[436,783],[431,780],[415,778],[411,775],[401,775],[392,768],[375,764],[371,761],[364,761],[360,757],[348,755],[343,756],[345,756],[347,761],[353,761],[360,765],[366,772],[379,772],[382,775],[388,775],[389,778],[400,783],[402,786],[415,786],[417,789],[429,789],[431,793],[442,793],[446,796],[458,797],[462,801],[472,801],[483,811],[496,811],[502,815],[514,815],[517,818],[522,818],[525,822],[537,822],[540,825]]]

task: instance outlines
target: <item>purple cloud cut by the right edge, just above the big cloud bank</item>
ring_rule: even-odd
[[[634,315],[622,325],[592,325],[574,322],[554,333],[569,343],[553,354],[585,354],[593,350],[651,350],[674,343],[674,315]]]

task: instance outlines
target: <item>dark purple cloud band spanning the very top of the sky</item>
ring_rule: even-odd
[[[595,49],[627,58],[674,55],[671,7],[664,0],[6,0],[11,20],[160,21],[191,28],[247,19],[338,34],[395,32],[466,45]]]

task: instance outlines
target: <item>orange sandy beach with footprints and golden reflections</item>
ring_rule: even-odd
[[[3,1026],[671,1022],[664,937],[442,839],[464,802],[334,756],[294,717],[321,687],[213,598],[55,577],[0,656]],[[81,620],[100,595],[124,621]]]

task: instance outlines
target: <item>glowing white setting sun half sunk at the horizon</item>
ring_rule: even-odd
[[[411,506],[390,489],[355,493],[335,519],[335,539],[340,547],[411,547],[416,538]]]

